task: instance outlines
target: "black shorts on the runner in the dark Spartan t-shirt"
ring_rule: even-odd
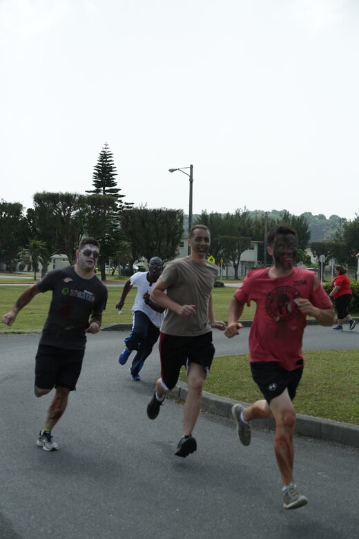
[[[40,389],[61,386],[75,390],[84,354],[85,350],[66,350],[40,344],[35,358],[35,386]]]

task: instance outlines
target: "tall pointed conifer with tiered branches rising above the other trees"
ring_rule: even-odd
[[[126,195],[120,195],[120,191],[115,182],[115,176],[117,176],[117,170],[113,160],[113,153],[108,149],[108,144],[104,145],[104,148],[99,153],[97,164],[93,167],[93,191],[86,191],[86,193],[95,193],[102,195],[111,195],[117,201],[117,209],[128,209],[133,206],[133,202],[124,202],[122,198]]]

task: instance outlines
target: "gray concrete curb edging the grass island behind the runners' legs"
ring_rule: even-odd
[[[187,384],[182,381],[177,382],[177,386],[171,391],[175,399],[186,400]],[[232,417],[232,406],[238,401],[217,397],[212,393],[204,391],[202,393],[202,410],[215,415],[220,415],[234,422]],[[241,402],[243,406],[249,406],[246,402]],[[274,431],[274,423],[270,419],[255,419],[254,428],[269,428]],[[330,419],[321,419],[309,415],[297,415],[295,422],[295,435],[307,436],[321,439],[325,442],[336,442],[344,446],[359,448],[359,426],[349,423],[340,423]]]

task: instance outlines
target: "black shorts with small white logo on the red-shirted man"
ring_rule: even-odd
[[[282,395],[285,388],[288,389],[289,397],[293,401],[302,378],[303,367],[285,370],[277,361],[253,361],[251,372],[255,384],[258,385],[269,404],[272,399]]]

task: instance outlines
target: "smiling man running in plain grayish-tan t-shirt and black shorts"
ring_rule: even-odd
[[[184,404],[182,437],[176,455],[186,457],[197,449],[192,436],[200,413],[202,388],[211,367],[215,348],[211,328],[223,331],[226,325],[215,321],[211,290],[217,267],[206,261],[211,234],[204,225],[190,231],[191,255],[169,263],[158,279],[151,298],[167,310],[161,325],[161,378],[148,403],[147,415],[155,419],[169,390],[177,384],[179,371],[186,366],[188,393]],[[166,290],[166,294],[164,291]]]

